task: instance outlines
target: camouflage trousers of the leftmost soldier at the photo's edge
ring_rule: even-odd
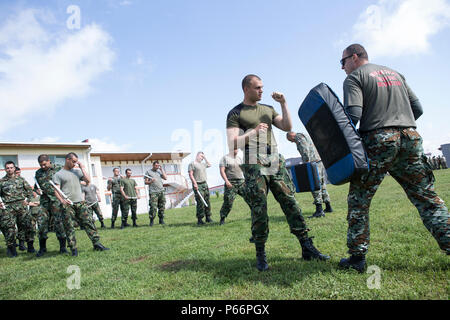
[[[6,204],[6,209],[0,210],[0,229],[5,236],[6,245],[16,245],[16,224],[25,232],[25,241],[34,241],[31,215],[23,200]]]

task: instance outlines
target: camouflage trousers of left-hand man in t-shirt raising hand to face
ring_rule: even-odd
[[[94,220],[89,214],[87,205],[84,201],[74,203],[73,205],[64,206],[64,211],[64,228],[66,229],[67,243],[70,248],[75,249],[77,247],[73,220],[78,222],[80,227],[84,228],[84,231],[86,232],[93,245],[96,245],[100,242],[100,237],[97,233],[97,228],[95,227]]]

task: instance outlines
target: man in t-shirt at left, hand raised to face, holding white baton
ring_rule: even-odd
[[[109,248],[105,248],[100,243],[97,228],[88,213],[86,202],[83,201],[80,180],[89,184],[90,176],[86,172],[85,166],[78,161],[78,156],[74,152],[70,152],[66,155],[64,167],[53,176],[53,182],[65,195],[58,191],[55,193],[56,197],[64,206],[65,215],[63,223],[72,256],[78,256],[72,219],[76,220],[80,227],[84,229],[94,246],[94,250],[109,250]]]

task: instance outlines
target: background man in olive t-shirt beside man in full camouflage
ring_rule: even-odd
[[[137,227],[137,199],[140,199],[139,191],[137,188],[137,183],[134,179],[131,178],[131,169],[125,170],[125,178],[120,179],[120,192],[122,193],[122,197],[124,198],[124,205],[122,211],[122,225],[120,229],[125,227],[129,227],[130,225],[127,223],[128,212],[131,207],[131,219],[133,220],[133,227]]]

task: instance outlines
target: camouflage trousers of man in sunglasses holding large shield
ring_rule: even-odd
[[[383,178],[390,175],[402,186],[419,211],[423,224],[444,251],[450,251],[450,216],[434,191],[434,175],[423,153],[422,138],[413,128],[385,128],[362,135],[370,171],[350,182],[347,246],[352,255],[369,248],[369,207]]]

